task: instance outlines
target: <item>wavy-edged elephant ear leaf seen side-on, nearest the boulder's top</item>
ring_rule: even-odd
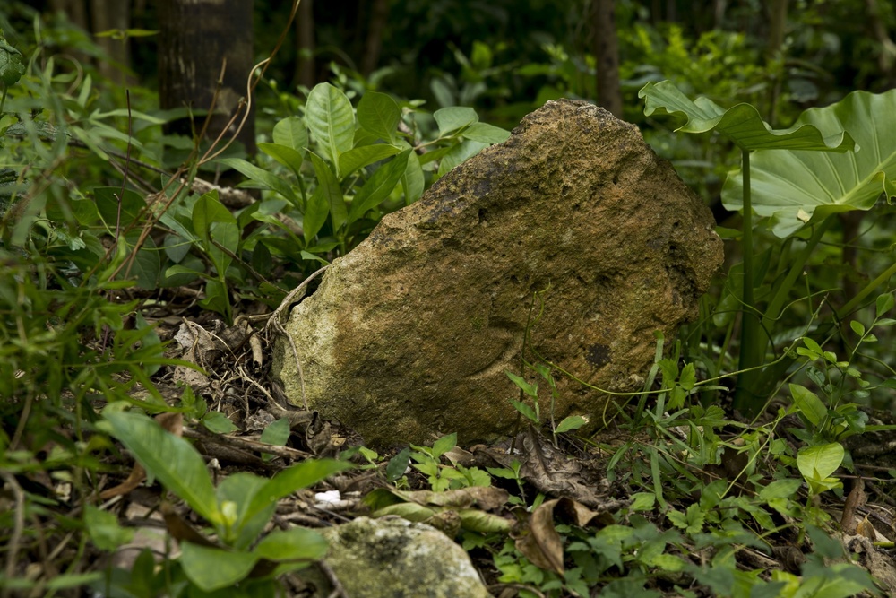
[[[819,127],[811,123],[797,123],[788,129],[772,129],[750,104],[722,108],[708,98],[692,101],[672,82],[649,82],[638,97],[646,100],[644,114],[669,114],[684,117],[685,125],[676,131],[706,133],[718,131],[727,136],[742,151],[806,150],[821,152],[849,152],[855,143],[842,127],[840,133],[825,137]]]

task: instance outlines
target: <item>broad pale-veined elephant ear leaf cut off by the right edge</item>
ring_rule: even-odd
[[[750,162],[753,211],[770,219],[780,238],[813,218],[868,210],[883,194],[896,196],[896,90],[881,94],[854,91],[825,108],[810,108],[797,126],[846,129],[861,150],[831,152],[754,152]],[[743,207],[740,170],[728,174],[722,202]]]

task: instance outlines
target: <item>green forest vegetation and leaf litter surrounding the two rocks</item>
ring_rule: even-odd
[[[386,515],[470,595],[896,593],[889,0],[5,0],[0,31],[4,598],[375,596],[328,534]],[[271,347],[322,268],[560,98],[725,241],[642,388],[555,421],[570,373],[523,347],[496,446],[290,407]]]

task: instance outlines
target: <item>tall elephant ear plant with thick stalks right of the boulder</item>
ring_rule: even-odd
[[[874,207],[896,195],[896,146],[880,131],[892,126],[896,92],[856,91],[827,108],[812,108],[786,130],[773,130],[748,104],[727,110],[711,100],[691,101],[669,82],[648,83],[640,92],[645,113],[685,117],[679,131],[725,134],[742,152],[741,168],[723,189],[726,207],[744,214],[740,234],[743,264],[732,270],[721,308],[741,312],[735,407],[758,413],[793,360],[768,355],[779,334],[797,282],[837,214]],[[754,214],[766,219],[778,251],[754,244]],[[848,239],[844,239],[847,241]],[[774,254],[778,262],[770,262]],[[807,323],[826,334],[896,273],[891,265],[855,296],[844,298],[827,323]],[[727,299],[733,299],[727,301]],[[808,298],[806,298],[808,299]]]

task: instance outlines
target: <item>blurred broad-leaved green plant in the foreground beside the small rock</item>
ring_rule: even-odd
[[[177,570],[194,588],[214,592],[240,585],[246,595],[273,596],[277,576],[307,567],[326,554],[328,545],[323,536],[303,527],[260,536],[280,498],[349,468],[348,463],[309,460],[283,469],[270,479],[239,472],[228,475],[216,488],[202,455],[158,422],[142,413],[123,412],[112,406],[104,412],[104,420],[102,427],[121,440],[147,473],[211,524],[216,540],[189,531],[185,521],[173,524],[170,519],[179,516],[166,513],[169,532],[180,530]],[[167,562],[166,566],[174,567],[174,563]],[[108,594],[113,580],[127,579],[124,573],[110,571],[106,580],[95,586]],[[169,572],[168,578],[179,575]],[[159,583],[163,580],[160,578]]]

